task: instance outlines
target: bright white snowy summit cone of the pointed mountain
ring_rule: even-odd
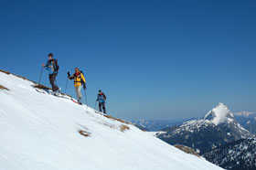
[[[234,116],[229,111],[228,106],[226,106],[222,102],[219,102],[219,104],[215,108],[213,108],[206,114],[204,120],[208,120],[210,122],[213,122],[215,125],[218,125],[219,123],[225,122],[233,118]]]

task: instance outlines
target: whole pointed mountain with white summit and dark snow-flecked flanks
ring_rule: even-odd
[[[203,119],[184,122],[180,126],[165,129],[165,132],[156,135],[166,143],[187,145],[199,154],[225,143],[253,137],[236,122],[223,103],[219,103]]]

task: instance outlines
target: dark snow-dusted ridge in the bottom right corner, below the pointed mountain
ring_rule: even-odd
[[[203,154],[208,161],[230,170],[256,169],[256,139],[241,139]]]

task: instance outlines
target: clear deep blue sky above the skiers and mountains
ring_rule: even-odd
[[[52,52],[62,89],[79,67],[89,104],[101,89],[108,112],[128,120],[199,117],[220,101],[256,112],[255,9],[255,0],[1,0],[0,69],[37,81]]]

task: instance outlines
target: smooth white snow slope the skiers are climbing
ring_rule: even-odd
[[[0,85],[8,89],[0,89],[1,170],[221,169],[131,124],[39,93],[29,80],[0,71]]]

